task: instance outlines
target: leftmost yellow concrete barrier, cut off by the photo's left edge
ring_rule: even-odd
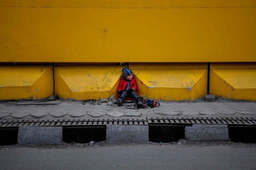
[[[44,99],[53,94],[52,66],[0,66],[0,100]]]

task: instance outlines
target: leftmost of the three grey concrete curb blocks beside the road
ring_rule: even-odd
[[[19,127],[19,144],[60,144],[61,141],[62,127]]]

